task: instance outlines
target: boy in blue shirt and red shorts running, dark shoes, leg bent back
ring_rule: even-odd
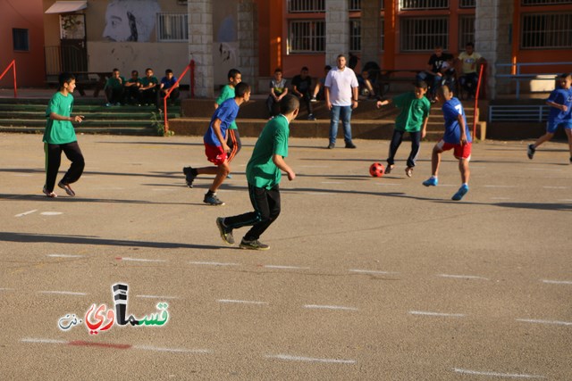
[[[231,148],[226,144],[226,131],[231,122],[236,119],[240,104],[244,104],[250,99],[250,87],[244,82],[240,82],[235,87],[234,92],[234,98],[227,99],[214,111],[211,123],[203,137],[206,159],[209,162],[213,162],[215,167],[185,167],[182,169],[189,188],[193,187],[193,181],[198,175],[216,175],[213,185],[208,188],[208,192],[206,192],[203,200],[204,203],[210,205],[224,205],[223,201],[216,196],[216,190],[223,185],[224,178],[227,178],[229,173],[231,173],[227,156],[231,152]]]

